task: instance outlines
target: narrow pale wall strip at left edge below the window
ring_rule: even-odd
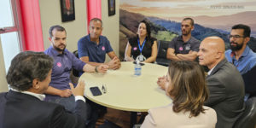
[[[6,73],[5,73],[5,67],[4,67],[4,61],[3,61],[3,49],[2,49],[1,38],[0,38],[0,92],[8,90],[8,84],[6,82],[5,76],[6,76]]]

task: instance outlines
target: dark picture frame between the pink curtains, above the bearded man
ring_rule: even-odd
[[[74,0],[61,1],[61,20],[62,22],[75,20]]]

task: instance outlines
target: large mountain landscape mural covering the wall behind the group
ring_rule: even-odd
[[[237,1],[237,2],[236,2]],[[202,40],[209,36],[224,39],[230,49],[231,27],[245,24],[251,27],[248,46],[256,52],[256,1],[253,0],[120,0],[119,55],[125,55],[128,38],[137,35],[141,20],[148,20],[151,35],[159,41],[172,41],[181,35],[184,17],[195,20],[192,36]]]

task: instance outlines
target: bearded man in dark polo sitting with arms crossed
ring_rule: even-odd
[[[166,58],[172,61],[195,61],[200,41],[191,36],[194,20],[184,18],[181,23],[182,36],[173,38],[167,49]]]

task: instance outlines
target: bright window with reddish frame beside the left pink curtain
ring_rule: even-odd
[[[7,73],[11,60],[22,49],[19,0],[0,1],[0,17],[0,43]]]

